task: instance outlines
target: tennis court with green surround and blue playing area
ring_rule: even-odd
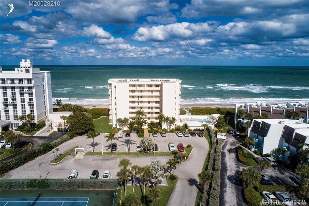
[[[112,206],[113,190],[1,190],[1,206],[31,205],[42,192],[34,206]]]

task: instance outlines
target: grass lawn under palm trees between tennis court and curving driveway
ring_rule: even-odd
[[[161,191],[161,198],[158,200],[158,202],[154,203],[155,206],[167,205],[168,199],[170,198],[170,196],[171,196],[171,194],[174,190],[174,187],[177,183],[178,177],[175,181],[171,181],[168,178],[166,178],[166,180],[167,180],[168,186],[157,187]],[[146,186],[146,194],[147,194],[148,189],[149,189],[149,187]],[[144,192],[143,186],[135,186],[134,193],[137,196],[141,197],[141,199],[143,200],[142,192]],[[124,191],[123,186],[121,186],[121,193],[122,193],[121,194],[121,200],[123,200],[123,199],[125,199],[125,191]],[[130,194],[130,193],[133,193],[133,186],[127,185],[127,195]],[[142,205],[143,206],[152,205],[152,203],[151,203],[151,201],[149,201],[148,204],[146,204],[144,201],[142,201]]]

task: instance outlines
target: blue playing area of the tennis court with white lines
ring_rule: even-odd
[[[30,206],[33,198],[0,198],[0,206]],[[89,198],[40,197],[33,206],[87,206]]]

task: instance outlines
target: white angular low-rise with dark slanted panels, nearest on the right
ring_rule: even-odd
[[[301,141],[297,140],[297,135],[296,139],[294,138],[295,129],[297,131],[300,129]],[[289,135],[285,135],[286,131],[289,131]],[[286,147],[292,154],[295,154],[298,149],[304,147],[299,145],[300,143],[309,142],[309,125],[299,120],[254,119],[248,130],[248,136],[255,139],[253,149],[259,150],[261,154],[274,154],[274,149],[280,147]]]

